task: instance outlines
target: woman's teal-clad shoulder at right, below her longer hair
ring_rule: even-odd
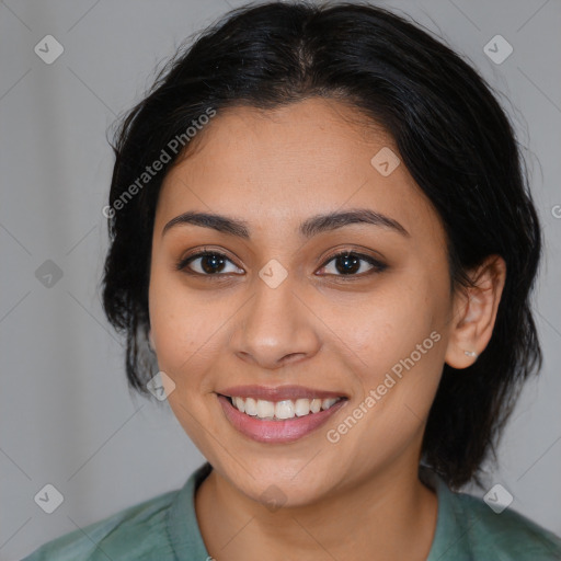
[[[529,518],[511,508],[495,513],[484,501],[466,493],[450,494],[455,513],[463,515],[462,529],[473,559],[561,560],[561,539]]]

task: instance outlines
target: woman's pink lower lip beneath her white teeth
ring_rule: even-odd
[[[218,396],[218,401],[234,428],[253,440],[271,444],[291,443],[302,438],[319,428],[346,402],[343,399],[324,411],[285,421],[264,421],[237,410],[224,396]]]

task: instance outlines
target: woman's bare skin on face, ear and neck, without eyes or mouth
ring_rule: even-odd
[[[360,124],[360,119],[363,124]],[[170,407],[214,467],[196,493],[207,549],[229,561],[424,560],[437,500],[417,478],[421,443],[444,363],[465,368],[488,344],[505,278],[501,257],[450,294],[445,231],[401,163],[370,163],[392,138],[339,101],[273,111],[234,107],[198,134],[167,175],[152,240],[149,310]],[[309,217],[368,208],[409,232],[357,224],[310,239]],[[247,221],[244,240],[164,226],[186,210]],[[188,253],[227,254],[222,279],[176,271]],[[193,250],[193,251],[191,251]],[[344,276],[328,259],[350,250],[378,259]],[[270,260],[288,276],[271,288]],[[341,263],[341,262],[340,262]],[[201,275],[196,276],[196,272]],[[238,274],[236,274],[238,273]],[[339,275],[339,276],[337,276]],[[215,273],[216,277],[216,273]],[[348,278],[346,275],[345,278]],[[391,367],[432,332],[440,339],[339,442],[327,438]],[[260,444],[227,421],[216,392],[229,386],[302,385],[348,397],[327,425],[290,444]],[[272,486],[274,485],[274,486]],[[270,510],[266,499],[283,503]]]

